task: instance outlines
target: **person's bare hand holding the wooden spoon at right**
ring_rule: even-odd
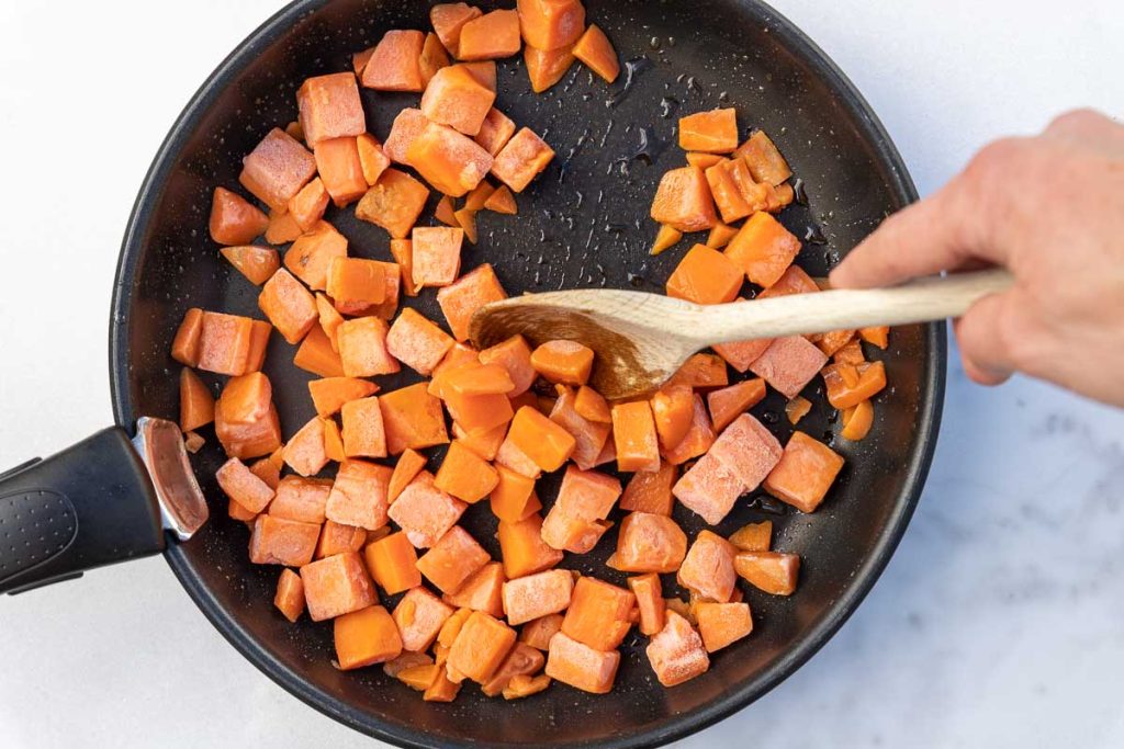
[[[987,265],[1009,268],[1015,285],[953,323],[968,375],[996,385],[1024,372],[1124,405],[1124,126],[1080,110],[1040,136],[990,144],[883,221],[831,283]]]

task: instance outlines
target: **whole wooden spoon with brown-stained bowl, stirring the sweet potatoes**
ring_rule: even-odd
[[[1007,271],[978,271],[889,289],[709,305],[637,291],[555,291],[484,305],[472,317],[470,336],[481,349],[516,334],[532,346],[580,341],[597,354],[592,387],[620,400],[654,391],[713,344],[955,318],[1013,282]]]

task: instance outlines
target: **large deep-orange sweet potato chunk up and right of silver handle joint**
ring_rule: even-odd
[[[281,447],[270,381],[254,372],[227,381],[215,404],[215,435],[229,457],[256,458]]]

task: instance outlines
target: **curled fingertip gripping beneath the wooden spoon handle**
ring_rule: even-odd
[[[964,372],[981,385],[999,385],[1017,368],[1012,346],[1014,294],[991,294],[979,300],[953,322]]]

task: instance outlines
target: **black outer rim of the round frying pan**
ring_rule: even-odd
[[[176,155],[196,130],[199,121],[230,80],[259,54],[277,42],[303,16],[321,8],[332,0],[293,0],[275,12],[252,31],[207,77],[192,94],[188,104],[176,117],[167,136],[161,144],[129,214],[121,250],[115,273],[114,293],[110,305],[109,325],[109,375],[116,422],[128,428],[136,421],[129,399],[128,327],[129,299],[144,255],[142,239],[154,213],[163,186]],[[879,121],[870,104],[858,88],[839,66],[795,24],[761,0],[747,0],[759,16],[768,24],[769,31],[776,34],[831,90],[839,94],[841,106],[855,120],[864,139],[870,143],[878,162],[889,170],[891,192],[903,203],[917,200],[917,190],[889,134]],[[755,678],[741,683],[722,697],[705,704],[701,709],[682,715],[672,715],[654,727],[629,737],[605,738],[582,742],[583,747],[651,747],[682,739],[706,729],[718,721],[750,705],[782,681],[791,676],[814,656],[839,631],[854,613],[859,604],[870,593],[890,557],[900,542],[913,517],[924,488],[941,424],[944,403],[948,342],[944,322],[925,326],[925,344],[930,356],[922,376],[922,399],[917,412],[919,438],[904,481],[899,496],[886,528],[873,551],[863,560],[853,576],[853,582],[826,615],[769,668]],[[400,747],[457,746],[453,742],[435,742],[425,731],[404,724],[388,723],[359,711],[336,695],[314,687],[285,667],[266,648],[252,637],[234,616],[218,603],[211,591],[202,582],[188,555],[178,544],[169,544],[165,559],[188,595],[203,612],[211,624],[246,659],[262,673],[309,706],[338,722]],[[469,746],[471,741],[464,741]]]

